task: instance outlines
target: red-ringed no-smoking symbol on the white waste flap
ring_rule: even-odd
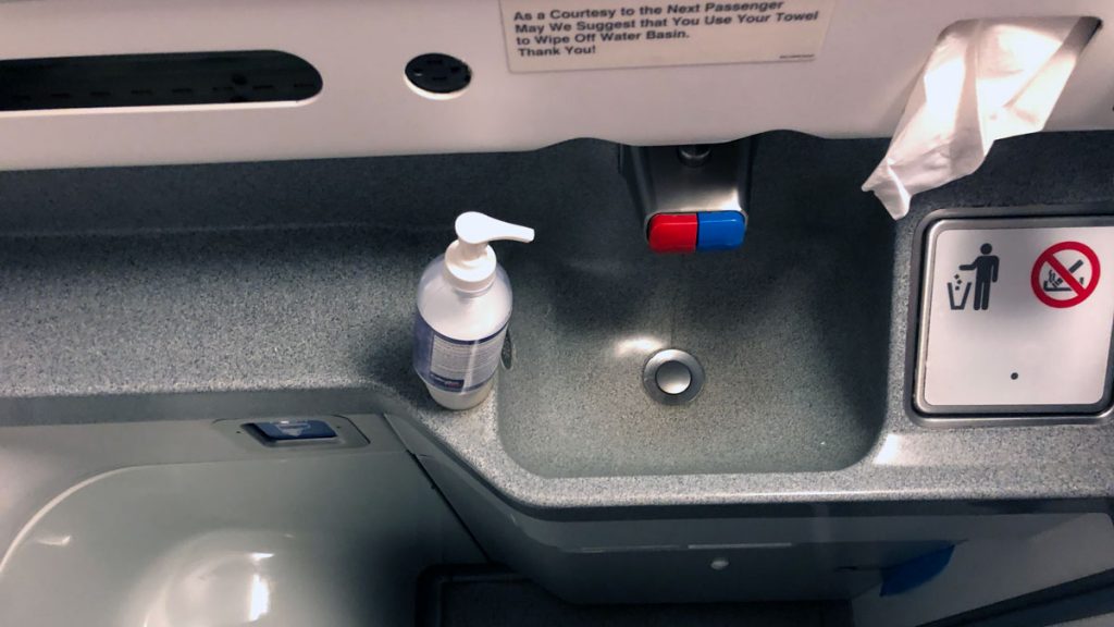
[[[1059,242],[1037,255],[1029,282],[1037,300],[1067,309],[1083,302],[1098,287],[1098,255],[1079,242]]]

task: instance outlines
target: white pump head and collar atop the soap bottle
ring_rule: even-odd
[[[495,280],[495,251],[488,242],[532,242],[534,229],[510,224],[476,211],[457,216],[457,241],[444,251],[444,271],[459,290],[481,291]]]

